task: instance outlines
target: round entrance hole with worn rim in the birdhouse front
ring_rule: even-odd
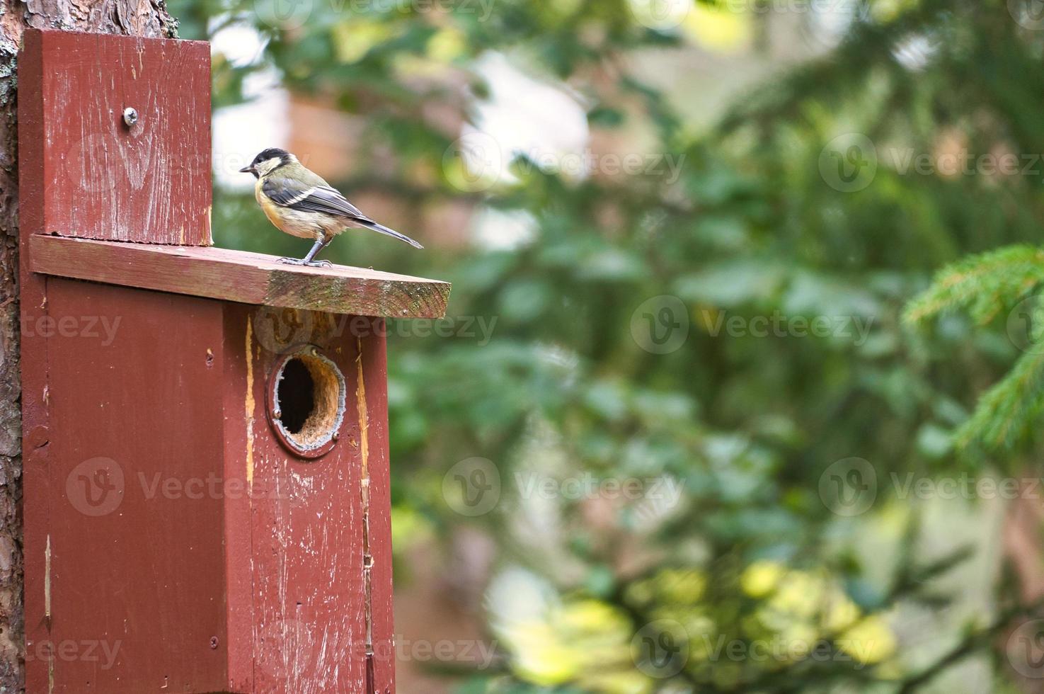
[[[317,458],[336,443],[345,419],[345,376],[314,347],[284,356],[268,388],[268,420],[291,453]]]

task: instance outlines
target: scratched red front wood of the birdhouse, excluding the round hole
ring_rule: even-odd
[[[270,349],[265,315],[224,307],[224,473],[250,490],[229,499],[224,510],[230,690],[392,694],[382,319],[365,319],[367,328],[357,332],[369,337],[361,339],[341,325],[356,317],[306,319],[310,342],[343,375],[347,397],[336,445],[318,459],[303,459],[287,453],[266,418],[265,390],[282,354]],[[363,687],[367,643],[376,654],[371,689]]]

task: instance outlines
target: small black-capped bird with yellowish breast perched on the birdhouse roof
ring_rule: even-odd
[[[286,149],[269,147],[239,172],[253,173],[257,179],[254,195],[277,229],[291,236],[315,239],[312,250],[301,260],[280,258],[280,262],[329,268],[329,260],[315,260],[315,255],[346,229],[372,229],[413,248],[424,248],[409,236],[367,217]]]

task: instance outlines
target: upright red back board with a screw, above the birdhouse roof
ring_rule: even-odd
[[[25,55],[41,68],[32,82],[20,80],[40,108],[41,229],[209,246],[210,45],[39,29],[25,36]],[[123,120],[127,107],[138,112],[133,126]]]

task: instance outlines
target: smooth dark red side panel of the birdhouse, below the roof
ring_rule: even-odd
[[[229,691],[223,306],[64,279],[48,305],[54,654],[29,691]]]

